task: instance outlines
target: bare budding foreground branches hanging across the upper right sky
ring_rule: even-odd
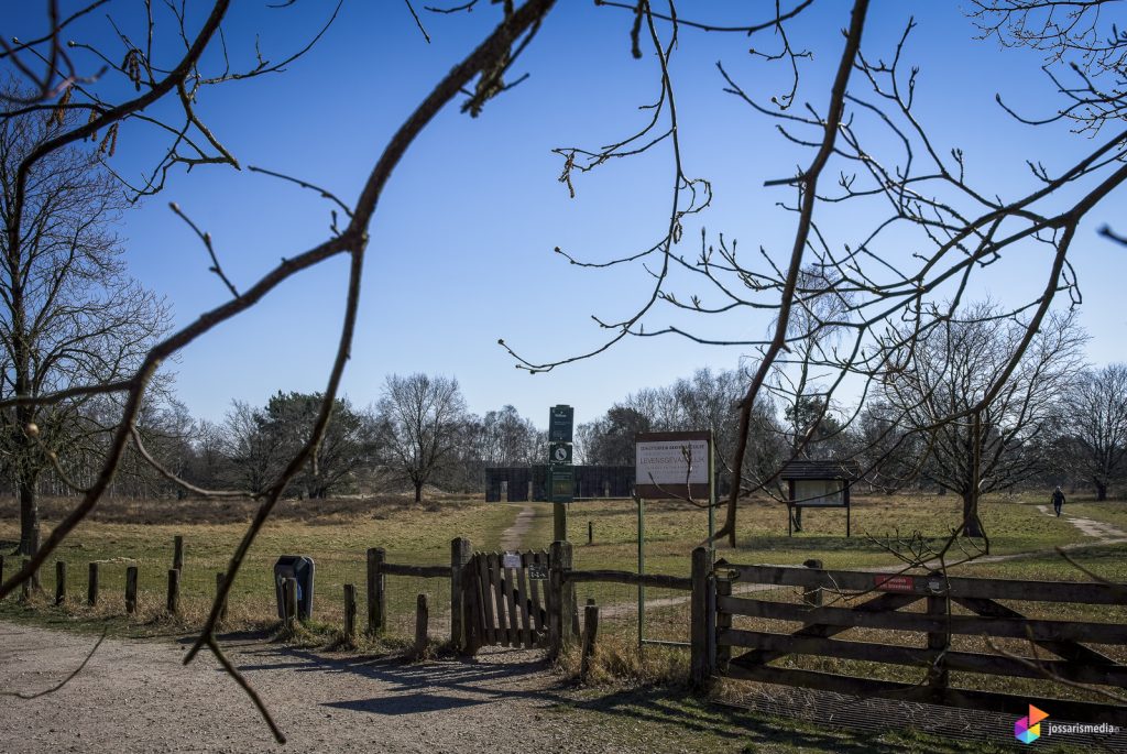
[[[595,356],[628,337],[678,336],[702,344],[729,345],[749,355],[755,369],[737,407],[736,446],[729,460],[737,484],[726,502],[727,516],[718,538],[726,536],[735,544],[740,498],[770,485],[778,476],[777,468],[764,479],[743,478],[753,407],[764,393],[772,391],[792,406],[798,406],[799,398],[813,394],[820,401],[822,411],[849,403],[852,411],[840,420],[844,432],[868,396],[902,367],[889,356],[911,353],[931,330],[942,331],[956,318],[983,268],[993,267],[994,274],[1002,274],[1000,270],[1018,265],[1028,274],[1030,259],[1044,260],[1038,268],[1042,283],[1031,285],[1004,312],[999,312],[1020,316],[1023,322],[1021,337],[1009,351],[1009,361],[993,372],[993,380],[977,393],[975,403],[942,417],[942,422],[966,424],[1008,389],[1024,352],[1048,323],[1054,304],[1061,299],[1073,305],[1080,302],[1070,251],[1077,232],[1082,232],[1081,223],[1093,211],[1101,211],[1127,180],[1127,134],[1120,117],[1121,51],[1127,42],[1118,30],[1124,25],[1115,26],[1112,3],[978,3],[977,15],[967,27],[968,37],[986,34],[983,24],[996,24],[990,34],[1002,35],[1012,44],[1029,44],[1012,24],[1018,16],[1008,14],[1008,8],[1018,6],[1049,17],[1076,9],[1085,23],[1099,29],[1089,37],[1095,42],[1088,57],[1067,34],[1055,41],[1045,37],[1046,45],[1061,51],[1059,64],[1049,65],[1049,76],[1073,77],[1076,81],[1071,86],[1058,78],[1061,94],[1068,104],[1054,105],[1049,116],[1039,121],[1002,100],[1003,107],[1024,124],[1074,117],[1081,126],[1093,126],[1085,135],[1094,134],[1083,142],[1086,153],[1070,165],[1047,167],[1044,160],[1031,158],[1032,188],[1005,197],[990,179],[971,180],[974,174],[968,171],[959,145],[940,143],[917,113],[920,69],[912,60],[914,20],[905,25],[890,48],[873,48],[866,37],[872,14],[868,0],[854,0],[848,15],[844,7],[823,9],[825,14],[838,12],[845,30],[841,46],[834,51],[828,88],[808,92],[809,79],[801,73],[809,64],[809,51],[800,45],[790,26],[796,16],[809,12],[809,2],[777,3],[773,16],[737,25],[685,17],[674,3],[663,3],[660,9],[650,2],[600,5],[609,12],[633,11],[632,48],[636,56],[644,56],[645,44],[658,91],[646,106],[649,119],[640,131],[607,139],[610,145],[605,148],[558,150],[564,160],[560,180],[574,193],[584,174],[612,161],[664,150],[673,177],[668,224],[663,227],[657,242],[622,250],[610,259],[588,260],[578,252],[559,250],[571,264],[593,269],[637,265],[648,275],[648,287],[639,296],[637,309],[614,321],[596,317],[609,331],[602,344],[554,361],[532,361],[503,346],[532,372]],[[1067,8],[1057,8],[1062,5]],[[694,8],[692,12],[702,11]],[[1051,26],[1045,28],[1053,32]],[[775,87],[772,96],[752,92],[751,82],[758,86],[758,81],[734,74],[726,63],[718,68],[725,91],[758,117],[772,119],[781,147],[798,154],[799,167],[793,175],[765,181],[766,188],[784,192],[779,204],[793,213],[790,240],[782,249],[753,240],[752,254],[737,254],[737,239],[730,233],[710,236],[704,228],[700,229],[698,249],[685,248],[684,239],[694,236],[686,225],[708,206],[711,189],[707,179],[691,177],[681,149],[686,132],[677,117],[676,69],[671,59],[678,54],[678,36],[696,29],[774,35],[770,51],[766,42],[752,51],[764,64],[783,66],[784,82]],[[1108,42],[1104,45],[1099,39]],[[1071,68],[1070,59],[1076,54],[1082,60]],[[1107,86],[1097,86],[1094,78],[1085,77],[1102,77]],[[740,82],[744,78],[749,82],[746,86]],[[816,86],[822,87],[822,79],[817,81]],[[1106,134],[1103,127],[1113,133]],[[838,222],[843,218],[844,222]],[[811,270],[816,274],[811,275]],[[819,311],[819,301],[834,305]],[[675,312],[678,319],[695,317],[700,323],[655,323],[664,309]],[[718,317],[730,321],[761,312],[770,312],[773,320],[764,337],[722,338],[711,329]],[[890,332],[899,338],[891,348],[886,337]],[[831,334],[832,339],[825,337]],[[780,374],[788,375],[789,381],[780,380]],[[807,375],[805,381],[802,375]],[[860,392],[861,399],[838,400],[836,397],[846,390]],[[894,432],[896,427],[889,425],[871,440],[881,441]],[[802,441],[796,443],[791,456],[804,449]],[[879,455],[869,454],[870,464],[879,460]]]

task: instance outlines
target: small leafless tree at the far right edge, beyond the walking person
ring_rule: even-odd
[[[1076,469],[1095,487],[1097,499],[1104,500],[1112,481],[1127,474],[1127,364],[1085,370],[1066,406]]]

